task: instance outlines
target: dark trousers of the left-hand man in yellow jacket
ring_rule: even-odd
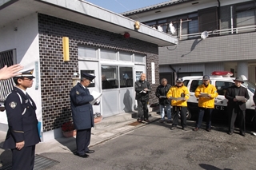
[[[172,126],[178,125],[178,113],[181,113],[182,128],[186,128],[186,110],[187,107],[184,106],[173,106],[174,119]]]

